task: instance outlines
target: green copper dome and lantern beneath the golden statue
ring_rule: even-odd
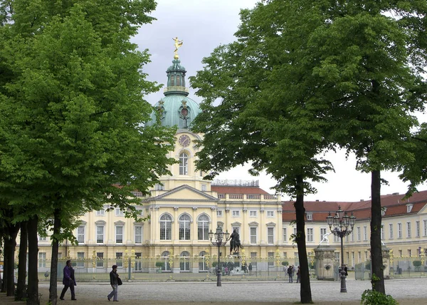
[[[164,98],[154,105],[154,112],[147,125],[156,120],[157,111],[164,126],[178,126],[179,129],[188,129],[196,115],[201,113],[199,104],[188,98],[189,89],[185,87],[185,68],[181,61],[175,58],[172,66],[167,68],[167,88],[164,88]]]

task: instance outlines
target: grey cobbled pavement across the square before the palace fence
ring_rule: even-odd
[[[427,279],[390,279],[386,280],[386,294],[394,299],[418,299],[418,303],[427,304]],[[40,284],[40,288],[48,288],[48,284]],[[58,294],[62,285],[58,284]],[[347,293],[340,292],[339,281],[311,281],[312,299],[316,302],[325,301],[360,301],[365,289],[371,289],[370,281],[347,280]],[[76,296],[94,301],[107,301],[111,286],[108,283],[78,283]],[[69,296],[69,291],[67,296]],[[44,301],[46,299],[44,298]],[[425,299],[425,303],[420,299]],[[197,283],[124,283],[119,287],[119,300],[169,301],[174,303],[226,302],[298,302],[300,301],[300,284],[285,281],[260,282],[223,282],[221,287],[216,281]],[[408,301],[408,300],[407,300]],[[45,303],[46,304],[46,303]],[[155,304],[155,303],[154,303]]]

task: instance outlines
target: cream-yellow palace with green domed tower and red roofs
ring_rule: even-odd
[[[167,88],[164,98],[154,105],[163,125],[177,126],[176,145],[169,157],[176,164],[169,167],[172,175],[160,178],[151,195],[140,196],[137,209],[147,222],[135,222],[124,217],[120,209],[107,212],[104,209],[86,213],[75,231],[78,245],[64,242],[60,256],[73,259],[97,258],[97,266],[105,272],[103,260],[120,260],[130,255],[138,258],[164,259],[163,272],[206,272],[208,264],[192,264],[192,259],[209,257],[218,248],[211,244],[209,231],[216,227],[225,232],[236,229],[243,245],[246,261],[258,269],[278,267],[278,259],[297,262],[297,247],[290,240],[295,234],[295,209],[293,202],[282,201],[280,195],[260,189],[257,181],[203,180],[203,172],[194,165],[199,150],[196,140],[203,135],[191,132],[191,123],[201,112],[199,105],[188,97],[186,70],[175,56],[167,68]],[[156,114],[152,113],[152,121]],[[147,124],[152,124],[149,122]],[[402,200],[404,195],[392,194],[381,197],[383,227],[381,236],[384,247],[394,257],[421,257],[427,248],[427,191]],[[307,252],[330,232],[326,217],[339,206],[357,217],[352,234],[344,237],[344,263],[349,267],[369,260],[370,201],[360,202],[305,202]],[[44,239],[44,240],[43,240]],[[339,262],[340,241],[331,234],[329,245],[336,248],[335,259]],[[324,242],[325,243],[325,242]],[[242,251],[242,250],[241,250]],[[228,255],[228,246],[221,249],[221,257]],[[40,262],[51,257],[49,238],[39,240]],[[183,264],[168,264],[169,257],[181,259]],[[263,262],[261,262],[263,261]],[[258,266],[257,266],[258,262]],[[423,262],[425,264],[425,262]],[[39,263],[43,269],[43,264]],[[44,266],[48,267],[48,266]],[[154,272],[154,268],[135,264],[134,272]]]

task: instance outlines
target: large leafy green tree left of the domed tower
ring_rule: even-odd
[[[73,217],[110,203],[137,219],[131,192],[167,174],[174,130],[144,127],[152,107],[142,96],[158,87],[141,73],[147,50],[130,43],[154,1],[11,2],[14,22],[1,30],[11,71],[0,89],[1,195],[26,211],[14,221],[28,220],[29,304],[38,304],[34,228],[53,218],[56,304],[58,242],[72,236]]]

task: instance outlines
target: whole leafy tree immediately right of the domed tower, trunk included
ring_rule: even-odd
[[[315,192],[310,182],[324,181],[322,175],[332,170],[321,155],[330,146],[322,115],[327,99],[317,99],[310,73],[315,62],[305,60],[307,40],[322,20],[312,1],[263,1],[241,11],[238,41],[216,48],[191,78],[204,98],[194,125],[204,133],[198,168],[211,171],[212,178],[251,162],[251,173],[265,169],[278,181],[276,190],[295,197],[292,239],[304,304],[312,302],[304,195]]]

